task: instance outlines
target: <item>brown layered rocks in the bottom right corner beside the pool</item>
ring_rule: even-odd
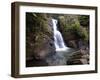
[[[79,65],[79,64],[89,64],[89,54],[87,50],[80,50],[75,52],[67,60],[67,65]]]

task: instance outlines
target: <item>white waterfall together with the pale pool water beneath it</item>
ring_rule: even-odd
[[[76,50],[69,48],[69,47],[67,47],[67,45],[65,45],[63,36],[57,27],[57,20],[52,19],[52,23],[53,23],[53,31],[54,31],[54,44],[55,44],[55,48],[56,48],[56,52],[57,52],[56,54],[62,58],[59,61],[62,64],[64,64],[64,62],[66,62],[68,60],[68,58],[70,58],[70,56],[73,55],[73,52]]]

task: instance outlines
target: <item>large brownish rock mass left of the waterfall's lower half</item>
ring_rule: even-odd
[[[38,34],[36,42],[31,43],[31,55],[36,59],[45,59],[48,54],[55,53],[54,41],[45,34]],[[28,53],[29,55],[29,53]]]

